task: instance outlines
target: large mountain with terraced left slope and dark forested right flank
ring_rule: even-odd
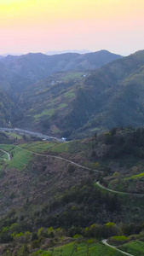
[[[87,137],[114,126],[144,124],[144,50],[92,71],[53,74],[20,94],[28,124],[55,136]]]

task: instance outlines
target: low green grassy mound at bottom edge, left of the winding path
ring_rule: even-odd
[[[73,252],[73,253],[72,253]],[[62,247],[55,247],[54,250],[42,251],[39,250],[37,253],[32,253],[32,256],[122,256],[124,253],[120,253],[113,248],[107,247],[101,242],[92,241],[90,244],[85,242],[76,243],[71,242]]]

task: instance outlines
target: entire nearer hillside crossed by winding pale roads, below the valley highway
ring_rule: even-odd
[[[144,129],[69,143],[0,137],[3,256],[142,255]]]

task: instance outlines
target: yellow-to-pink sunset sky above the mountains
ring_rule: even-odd
[[[0,0],[0,55],[144,49],[144,0]]]

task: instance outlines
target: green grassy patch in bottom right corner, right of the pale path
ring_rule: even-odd
[[[131,241],[118,248],[126,253],[131,253],[134,256],[144,255],[144,241]]]

